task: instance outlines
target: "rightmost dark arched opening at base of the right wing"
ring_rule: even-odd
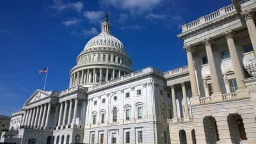
[[[227,117],[228,129],[232,143],[240,143],[240,140],[247,140],[246,132],[244,131],[244,123],[241,115],[234,113]]]

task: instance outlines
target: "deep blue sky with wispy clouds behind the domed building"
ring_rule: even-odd
[[[182,24],[230,4],[230,0],[1,0],[0,115],[11,115],[42,89],[68,88],[69,71],[92,36],[100,31],[104,12],[111,33],[119,38],[132,68],[161,71],[186,65]]]

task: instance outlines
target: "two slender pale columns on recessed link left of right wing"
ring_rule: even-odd
[[[189,108],[188,108],[188,98],[187,98],[187,92],[186,92],[186,85],[185,82],[181,83],[182,87],[182,96],[184,100],[184,121],[189,120]],[[176,104],[176,97],[175,97],[175,85],[173,84],[171,86],[171,91],[172,91],[172,106],[173,106],[173,121],[177,120],[177,104]]]

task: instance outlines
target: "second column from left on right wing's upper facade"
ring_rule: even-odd
[[[216,70],[214,56],[212,53],[211,40],[210,40],[210,38],[205,38],[205,40],[203,40],[203,42],[205,44],[205,49],[206,49],[207,59],[209,62],[211,79],[212,79],[212,86],[213,86],[213,94],[212,95],[221,95],[218,73]]]

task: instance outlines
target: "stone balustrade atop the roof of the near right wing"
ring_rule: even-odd
[[[201,26],[202,24],[210,22],[211,20],[217,19],[218,17],[222,17],[222,16],[227,15],[228,13],[231,13],[234,11],[236,11],[236,9],[234,8],[234,6],[232,4],[230,4],[229,6],[220,8],[216,12],[213,12],[213,13],[210,13],[209,15],[200,17],[199,19],[196,19],[193,22],[189,22],[188,24],[184,24],[182,26],[182,33],[188,31],[189,29],[196,28],[198,26]]]

